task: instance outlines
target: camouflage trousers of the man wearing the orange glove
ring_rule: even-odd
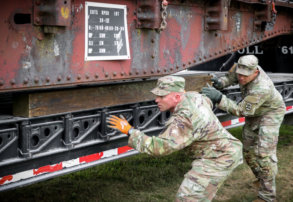
[[[218,170],[203,166],[192,166],[191,170],[184,175],[185,178],[178,189],[175,202],[212,201],[219,187],[232,170],[234,168]]]

